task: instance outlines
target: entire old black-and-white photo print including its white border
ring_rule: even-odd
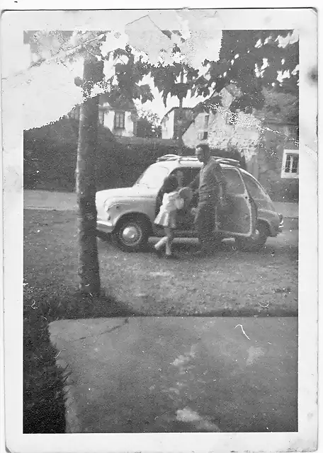
[[[4,139],[15,117],[20,128],[4,142],[16,155],[4,244],[23,228],[21,433],[276,433],[274,451],[309,451],[317,382],[300,384],[300,364],[317,345],[300,355],[299,325],[301,303],[307,331],[317,309],[316,12],[2,21],[21,30],[2,64]],[[264,439],[241,451],[273,451]]]

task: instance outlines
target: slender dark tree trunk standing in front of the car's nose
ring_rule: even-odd
[[[84,97],[103,78],[103,64],[92,56],[84,59]],[[98,137],[98,96],[87,98],[79,116],[77,147],[77,229],[79,243],[79,289],[100,293],[98,247],[96,243],[96,146]]]

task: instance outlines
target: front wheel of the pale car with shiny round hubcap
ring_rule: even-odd
[[[122,219],[113,232],[113,242],[126,252],[145,251],[148,245],[150,226],[140,217]]]

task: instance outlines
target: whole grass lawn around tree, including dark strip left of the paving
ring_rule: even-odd
[[[269,245],[242,253],[223,245],[192,260],[192,243],[176,244],[179,260],[123,253],[98,241],[99,298],[77,293],[74,212],[25,211],[24,432],[64,432],[62,373],[47,325],[101,316],[296,316],[297,247]]]

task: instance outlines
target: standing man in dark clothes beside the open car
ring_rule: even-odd
[[[198,144],[196,157],[203,166],[189,187],[193,190],[198,188],[195,226],[200,250],[196,255],[203,256],[210,251],[217,207],[225,203],[225,178],[220,164],[211,156],[208,144]]]

